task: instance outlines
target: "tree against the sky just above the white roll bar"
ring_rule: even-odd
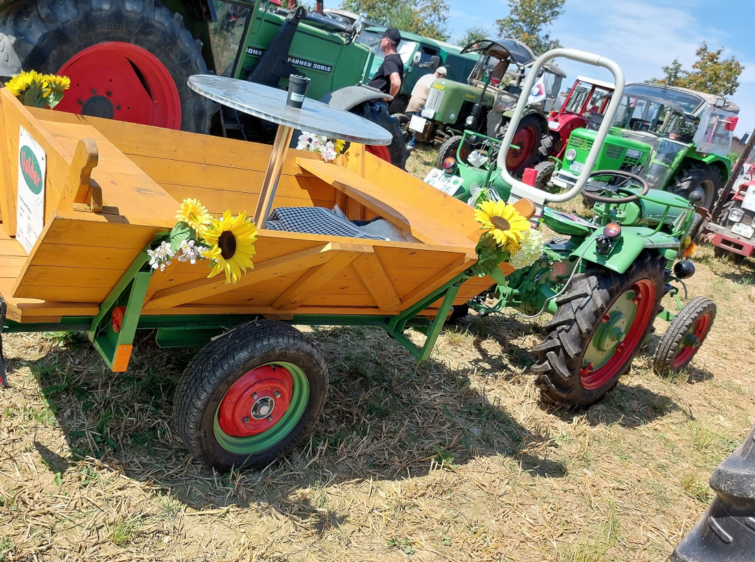
[[[519,39],[541,55],[559,47],[558,39],[551,39],[544,26],[564,13],[566,0],[508,0],[509,15],[495,20],[502,37]]]

